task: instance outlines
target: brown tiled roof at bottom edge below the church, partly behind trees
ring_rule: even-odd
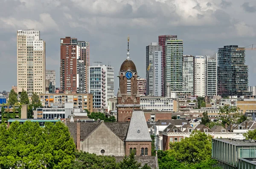
[[[116,159],[116,163],[121,162],[125,157],[121,156],[114,156]],[[151,169],[159,169],[158,167],[158,161],[157,157],[155,156],[135,156],[134,159],[141,164],[141,167],[143,167],[145,164],[148,164],[148,166],[151,167]]]

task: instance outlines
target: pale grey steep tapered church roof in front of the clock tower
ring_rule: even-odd
[[[152,141],[143,111],[134,111],[125,141]]]

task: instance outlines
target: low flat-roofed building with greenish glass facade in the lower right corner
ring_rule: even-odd
[[[255,169],[256,140],[212,139],[212,158],[223,169]]]

